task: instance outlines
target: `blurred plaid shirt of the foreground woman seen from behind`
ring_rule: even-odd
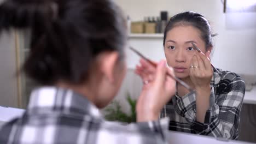
[[[81,95],[42,87],[32,92],[24,115],[1,128],[0,143],[167,143],[168,123],[107,122]]]

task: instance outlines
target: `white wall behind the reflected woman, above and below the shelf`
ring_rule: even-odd
[[[143,20],[144,16],[159,16],[161,10],[167,10],[169,16],[187,10],[203,14],[211,22],[213,32],[219,34],[214,38],[216,46],[212,63],[218,68],[236,73],[256,74],[256,29],[227,30],[225,22],[227,14],[223,13],[223,4],[220,0],[114,1],[131,17],[132,21]],[[155,48],[152,47],[152,43]],[[138,49],[146,52],[152,59],[164,58],[160,50],[162,48],[161,39],[132,39],[131,45],[143,46]],[[155,49],[160,51],[155,51]],[[133,56],[130,55],[128,53],[128,64],[134,65],[137,58],[133,59]]]

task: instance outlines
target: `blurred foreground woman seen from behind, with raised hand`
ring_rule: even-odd
[[[137,122],[107,122],[109,104],[124,79],[127,33],[121,11],[108,0],[9,0],[0,5],[0,30],[30,28],[23,70],[42,87],[27,110],[0,129],[0,143],[166,143],[162,107],[176,92],[173,71],[158,63],[139,96]],[[160,97],[160,99],[158,98]]]

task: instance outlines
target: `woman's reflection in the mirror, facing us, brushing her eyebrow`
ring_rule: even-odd
[[[245,82],[235,73],[211,66],[212,37],[201,14],[188,11],[171,17],[164,33],[167,63],[196,93],[177,83],[177,93],[161,116],[170,117],[170,130],[237,139]],[[141,60],[136,73],[150,81],[154,68]]]

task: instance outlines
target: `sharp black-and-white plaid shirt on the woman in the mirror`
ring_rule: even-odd
[[[161,117],[170,117],[169,129],[236,140],[240,111],[245,96],[245,82],[240,76],[221,69],[213,70],[210,108],[205,122],[196,121],[196,95],[177,94],[165,105]]]

